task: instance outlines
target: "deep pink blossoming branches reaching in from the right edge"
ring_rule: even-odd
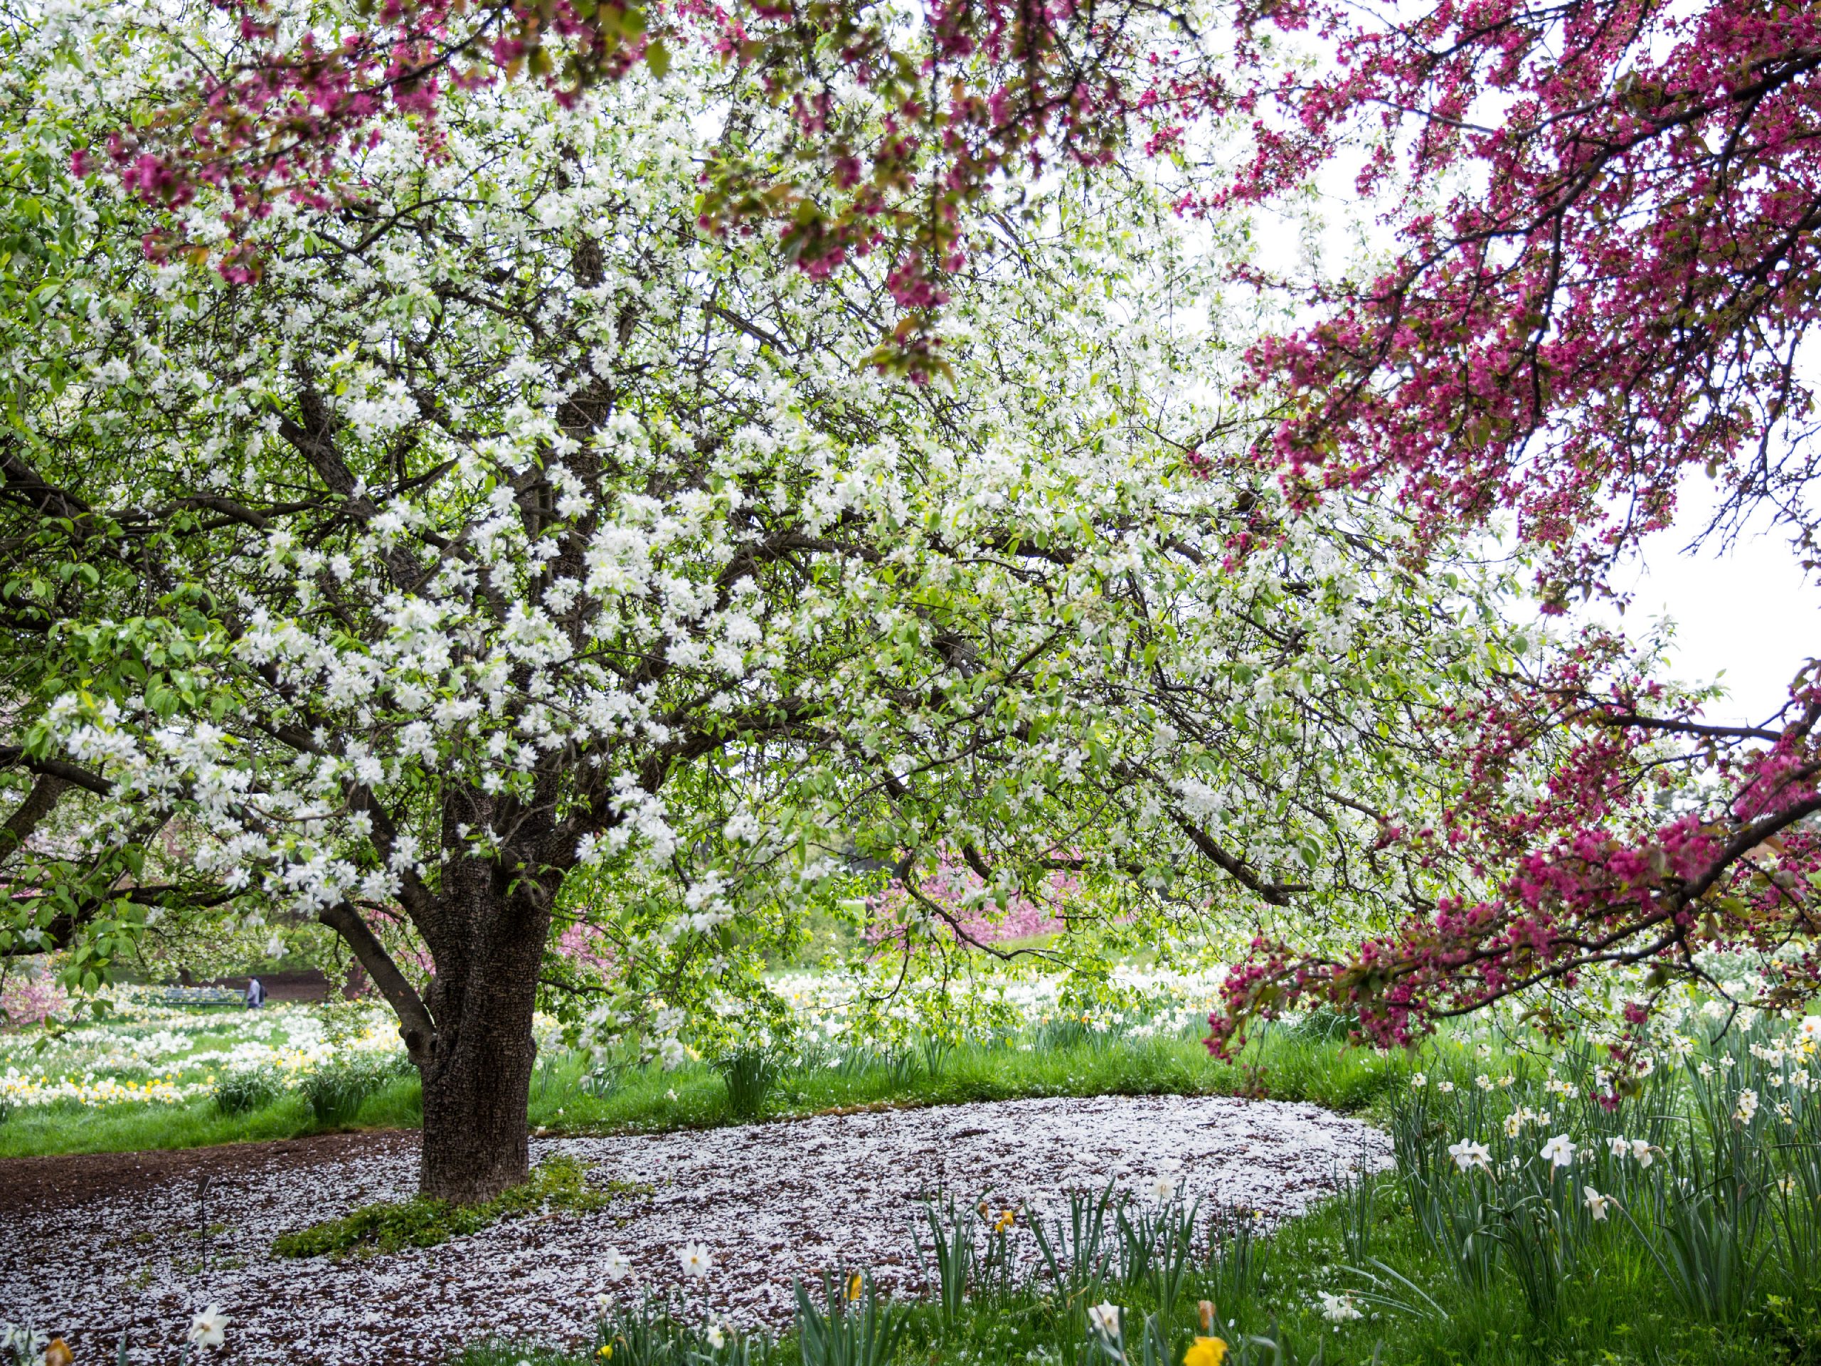
[[[1561,610],[1666,526],[1692,470],[1712,534],[1757,510],[1810,565],[1817,468],[1810,330],[1821,310],[1821,13],[1710,0],[1413,5],[1388,22],[1324,0],[1242,5],[1242,67],[1307,31],[1337,60],[1215,98],[1255,157],[1204,209],[1300,186],[1364,148],[1358,188],[1395,233],[1382,271],[1317,290],[1315,321],[1251,352],[1277,421],[1258,455],[1298,506],[1389,488],[1420,554],[1501,510]],[[1792,628],[1805,628],[1792,623]],[[1615,963],[1657,989],[1708,945],[1770,954],[1768,1004],[1821,987],[1821,688],[1812,667],[1763,725],[1701,719],[1586,641],[1479,705],[1457,756],[1471,800],[1400,840],[1484,869],[1435,887],[1348,954],[1260,940],[1216,1047],[1298,998],[1404,1040],[1437,1016]],[[1513,763],[1541,738],[1541,787]],[[1670,794],[1670,772],[1692,774]]]

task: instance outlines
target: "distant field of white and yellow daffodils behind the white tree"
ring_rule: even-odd
[[[1712,967],[1741,994],[1754,987],[1748,963]],[[992,1044],[1031,1053],[1065,1042],[1185,1038],[1213,1007],[1220,976],[1220,969],[1169,973],[1127,965],[1091,991],[1063,974],[1031,974],[881,1002],[865,978],[785,973],[770,985],[788,1007],[787,1024],[779,1038],[767,1035],[763,1042],[788,1065],[814,1069],[843,1056],[894,1056],[932,1045]],[[1511,1035],[1510,1024],[1486,1018],[1453,1031],[1439,1047],[1490,1053],[1493,1042]],[[1686,994],[1652,1018],[1637,1062],[1648,1076],[1679,1065],[1719,1031],[1752,1031],[1757,1024],[1755,1011]],[[1810,1031],[1805,1040],[1812,1042],[1821,1018],[1794,1027]],[[1582,1038],[1592,1047],[1608,1047],[1619,1035],[1593,1027]],[[546,1064],[565,1058],[559,1020],[539,1013],[537,1040]],[[1697,1065],[1714,1067],[1704,1060]],[[71,1009],[46,1025],[0,1031],[0,1115],[47,1106],[180,1106],[209,1096],[226,1098],[233,1109],[242,1091],[249,1100],[270,1098],[324,1073],[371,1078],[406,1071],[397,1024],[377,1002],[198,1009],[169,1004],[158,987],[111,985],[80,1013]],[[1612,1082],[1601,1067],[1593,1078],[1597,1087]],[[1748,1104],[1781,1115],[1790,1095],[1816,1084],[1821,1076],[1810,1080],[1808,1067],[1792,1065]]]

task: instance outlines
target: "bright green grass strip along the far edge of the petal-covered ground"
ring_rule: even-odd
[[[1346,1047],[1298,1029],[1267,1029],[1246,1049],[1240,1065],[1213,1062],[1200,1038],[1184,1035],[1140,1040],[1085,1035],[1029,1051],[1020,1042],[965,1044],[940,1058],[934,1073],[920,1053],[901,1055],[896,1065],[874,1058],[845,1069],[787,1071],[759,1113],[781,1118],[1022,1096],[1251,1095],[1260,1087],[1271,1098],[1357,1113],[1371,1111],[1413,1065],[1400,1055]],[[728,1106],[727,1082],[705,1064],[674,1073],[634,1067],[606,1095],[590,1093],[585,1078],[581,1056],[543,1062],[532,1084],[532,1126],[546,1133],[650,1133],[739,1122]],[[0,1157],[200,1147],[295,1138],[326,1127],[410,1129],[421,1122],[422,1091],[415,1075],[390,1080],[341,1126],[319,1124],[295,1093],[240,1115],[222,1115],[213,1100],[102,1109],[69,1102],[15,1111],[0,1124]]]

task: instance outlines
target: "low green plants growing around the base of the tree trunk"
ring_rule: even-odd
[[[548,1157],[532,1167],[523,1186],[484,1204],[450,1204],[415,1197],[402,1202],[375,1202],[310,1228],[280,1233],[271,1249],[279,1257],[344,1257],[348,1253],[392,1253],[401,1248],[433,1248],[439,1242],[479,1233],[503,1218],[523,1218],[550,1209],[585,1213],[601,1209],[615,1195],[636,1189],[626,1182],[590,1186],[581,1162]]]

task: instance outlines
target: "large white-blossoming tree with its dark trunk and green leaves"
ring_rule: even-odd
[[[231,188],[148,206],[71,158],[208,51],[164,24],[7,35],[7,758],[64,812],[9,945],[320,922],[422,1075],[422,1189],[472,1200],[524,1175],[579,871],[630,953],[730,989],[836,852],[1160,923],[1409,894],[1384,812],[1450,801],[1450,694],[1521,654],[1501,585],[1417,581],[1395,517],[1287,519],[1204,450],[1218,251],[1156,189],[1007,204],[952,381],[898,384],[863,364],[883,279],[701,235],[703,158],[785,115],[685,51],[384,124],[359,199],[273,204],[237,279]]]

